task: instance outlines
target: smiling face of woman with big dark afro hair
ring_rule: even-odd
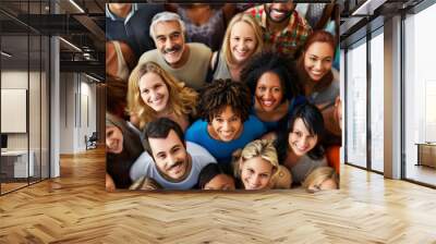
[[[257,81],[255,98],[264,111],[274,111],[283,99],[280,77],[272,72],[264,73]]]

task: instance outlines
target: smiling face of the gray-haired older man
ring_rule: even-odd
[[[182,28],[177,21],[158,22],[154,28],[157,50],[172,68],[182,65],[184,37]]]

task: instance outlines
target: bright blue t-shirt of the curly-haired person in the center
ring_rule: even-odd
[[[218,162],[230,163],[234,150],[242,149],[246,144],[257,139],[265,133],[265,125],[257,118],[250,115],[249,120],[243,123],[242,134],[231,142],[213,138],[207,132],[207,121],[205,120],[195,121],[186,130],[185,139],[206,148]]]

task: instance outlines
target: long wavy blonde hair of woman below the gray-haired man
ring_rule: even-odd
[[[141,77],[148,72],[159,75],[166,84],[169,93],[167,108],[170,109],[170,112],[174,112],[178,117],[185,114],[195,115],[198,97],[195,90],[186,87],[184,83],[179,82],[155,62],[140,63],[129,77],[128,89],[128,112],[130,115],[138,118],[140,129],[143,129],[147,123],[157,119],[158,115],[141,97],[138,83]]]

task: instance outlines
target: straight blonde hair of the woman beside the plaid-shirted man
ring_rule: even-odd
[[[254,20],[254,17],[251,16],[250,14],[239,13],[231,19],[229,25],[227,26],[225,38],[222,40],[222,53],[225,54],[227,63],[234,63],[232,54],[231,54],[231,48],[230,48],[230,34],[231,34],[231,30],[232,30],[234,24],[237,24],[238,22],[245,22],[253,28],[254,36],[257,40],[257,45],[256,45],[256,49],[254,50],[252,57],[262,52],[262,49],[264,47],[264,37],[262,34],[261,26],[257,24],[257,22]]]

